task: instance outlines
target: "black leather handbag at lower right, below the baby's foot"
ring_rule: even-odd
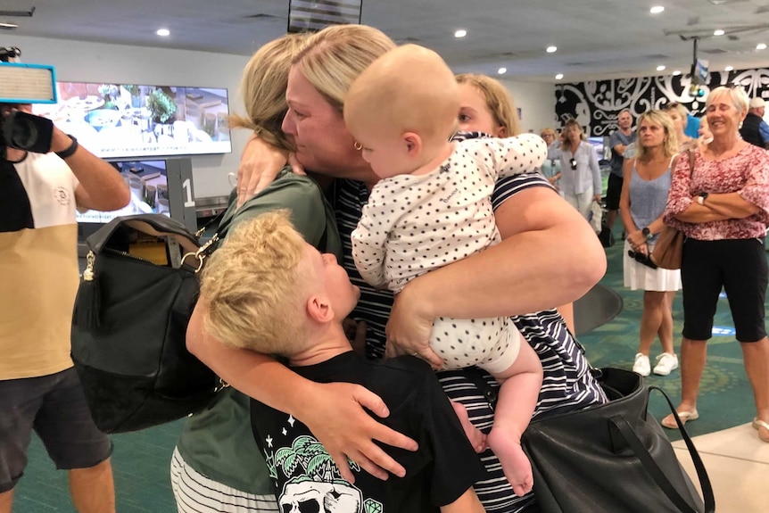
[[[611,401],[538,417],[521,439],[532,462],[542,513],[712,513],[705,466],[662,389],[621,368],[597,371]],[[647,410],[649,390],[665,395],[697,469],[704,503]]]

